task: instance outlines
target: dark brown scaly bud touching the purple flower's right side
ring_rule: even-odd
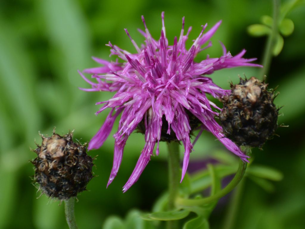
[[[226,137],[238,145],[262,147],[278,127],[273,92],[255,77],[231,84],[219,116]]]

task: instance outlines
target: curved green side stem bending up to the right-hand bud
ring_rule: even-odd
[[[180,198],[178,197],[176,199],[176,205],[179,206],[197,206],[197,205],[205,205],[205,204],[209,204],[212,203],[216,200],[218,200],[219,198],[225,196],[226,194],[228,194],[229,192],[231,192],[236,185],[239,183],[239,181],[242,179],[242,177],[244,176],[245,172],[246,172],[246,168],[247,168],[247,162],[243,162],[240,159],[239,162],[239,167],[238,170],[234,176],[234,178],[231,180],[231,182],[221,191],[217,192],[216,194],[206,197],[206,198],[201,198],[201,199],[184,199],[184,198]]]

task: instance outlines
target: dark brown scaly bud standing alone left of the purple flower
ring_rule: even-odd
[[[34,150],[38,157],[32,161],[38,189],[60,200],[84,191],[93,177],[92,158],[86,153],[86,144],[74,143],[72,132],[64,136],[53,132],[51,137],[41,137],[41,146]]]

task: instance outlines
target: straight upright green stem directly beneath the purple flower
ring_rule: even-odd
[[[175,199],[178,195],[178,186],[180,181],[180,157],[179,143],[167,143],[168,148],[168,210],[175,208]],[[167,221],[167,229],[178,228],[177,221]]]

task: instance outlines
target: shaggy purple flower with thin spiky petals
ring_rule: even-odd
[[[240,151],[238,146],[224,137],[221,126],[214,120],[218,112],[214,111],[212,107],[217,110],[221,109],[206,97],[206,93],[209,93],[215,98],[221,98],[228,95],[230,90],[220,88],[213,83],[211,78],[205,75],[222,68],[238,66],[260,67],[258,64],[249,63],[256,60],[256,58],[242,58],[246,52],[245,50],[242,50],[236,56],[232,56],[222,44],[223,56],[219,58],[207,56],[206,60],[196,63],[194,62],[194,57],[203,49],[211,46],[211,42],[209,42],[207,46],[202,48],[202,45],[209,41],[216,32],[221,21],[206,33],[203,32],[207,24],[202,26],[203,29],[198,38],[196,38],[191,48],[186,49],[185,42],[192,27],[188,29],[185,35],[183,17],[179,38],[175,37],[174,44],[168,45],[164,27],[164,12],[162,12],[161,17],[161,37],[159,40],[155,40],[150,35],[142,16],[145,31],[139,30],[139,32],[145,37],[145,45],[141,45],[141,48],[125,29],[137,51],[134,54],[109,42],[108,46],[111,48],[110,56],[117,55],[124,63],[119,63],[117,60],[116,62],[109,62],[93,58],[103,66],[85,69],[83,72],[92,74],[92,78],[97,81],[96,83],[89,81],[79,72],[84,80],[92,86],[91,89],[82,90],[116,92],[111,99],[96,103],[104,104],[96,114],[106,108],[111,108],[111,111],[101,129],[89,142],[89,150],[98,149],[102,146],[111,132],[115,119],[122,113],[118,131],[113,136],[115,138],[113,168],[107,187],[117,175],[128,136],[137,128],[140,122],[144,122],[145,146],[133,173],[123,187],[124,192],[139,179],[153,154],[156,143],[156,155],[159,154],[162,122],[163,125],[164,122],[168,123],[167,134],[174,131],[177,139],[182,141],[185,147],[181,176],[181,181],[183,180],[188,166],[189,155],[193,148],[190,140],[191,127],[188,113],[200,120],[202,129],[213,133],[228,150],[244,161],[247,161],[248,158]]]

